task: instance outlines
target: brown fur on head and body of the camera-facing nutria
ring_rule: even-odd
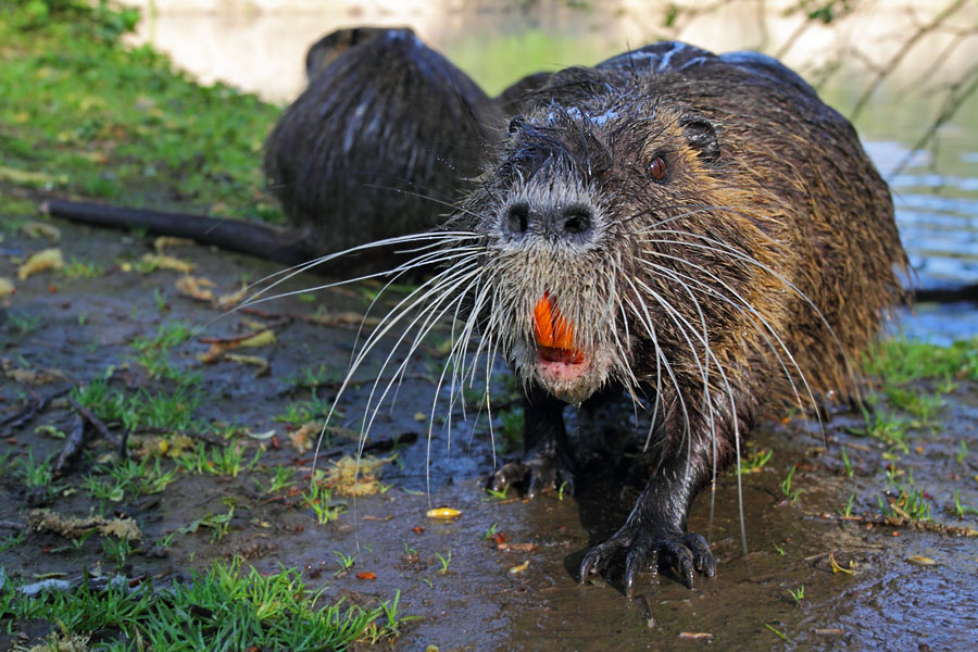
[[[602,214],[609,237],[599,242],[601,249],[576,256],[569,269],[547,266],[537,253],[517,259],[506,254],[507,268],[500,274],[540,280],[514,280],[516,285],[505,288],[506,294],[525,299],[501,321],[513,324],[514,333],[528,339],[531,310],[527,305],[537,300],[543,286],[560,288],[562,308],[572,322],[591,343],[607,346],[610,334],[591,333],[589,324],[602,322],[593,306],[603,305],[606,297],[595,297],[593,288],[602,285],[602,275],[610,275],[643,278],[690,324],[699,325],[701,316],[688,291],[669,279],[651,277],[639,263],[652,260],[678,274],[698,274],[690,264],[655,259],[672,255],[705,266],[736,289],[786,342],[814,392],[838,392],[843,398],[855,394],[853,363],[858,362],[883,313],[896,299],[900,286],[894,267],[905,265],[906,259],[889,190],[851,125],[811,89],[799,89],[792,82],[779,83],[712,55],[682,72],[649,75],[605,65],[572,68],[552,77],[549,86],[537,91],[539,108],[527,117],[534,136],[517,129],[503,146],[502,163],[489,171],[484,186],[468,198],[460,222],[486,234],[486,264],[492,268],[497,252],[504,249],[496,247],[492,233],[516,171],[525,176],[541,175],[551,184],[579,184],[594,198],[615,198],[617,205]],[[551,100],[559,104],[557,110]],[[612,111],[623,117],[599,127],[588,124],[587,117],[562,113],[570,108],[579,114]],[[550,125],[549,113],[556,113]],[[639,121],[641,114],[654,117]],[[716,162],[703,161],[686,142],[679,123],[688,114],[714,125],[720,149]],[[556,145],[541,145],[547,139]],[[575,143],[579,145],[577,151]],[[534,154],[534,147],[541,152]],[[664,184],[655,184],[641,172],[660,150],[670,156],[670,178]],[[544,154],[554,152],[565,158],[566,167],[541,164]],[[709,206],[713,208],[703,211]],[[654,238],[678,238],[688,244],[643,241],[643,228],[690,211],[700,212],[676,217],[663,228],[694,235]],[[723,241],[758,264],[710,253],[701,247],[709,243],[702,237]],[[715,279],[700,274],[700,280],[713,287],[717,297],[730,298],[729,289]],[[772,334],[758,326],[754,315],[723,301],[710,301],[702,296],[705,291],[702,287],[697,290],[700,309],[710,319],[711,349],[726,363],[730,383],[753,386],[765,402],[797,401],[795,390],[772,352]],[[648,292],[635,297],[636,304],[640,299],[650,306],[656,304]],[[661,317],[655,325],[668,326],[668,319]],[[624,335],[623,325],[616,327]],[[659,334],[665,338],[661,346],[675,350],[677,366],[695,377],[697,365],[688,351],[682,353],[689,349],[688,342],[668,330]],[[639,319],[630,331],[642,339]],[[595,338],[604,339],[595,342]],[[648,360],[643,347],[648,343],[635,342],[632,360],[627,363],[639,379],[648,381],[655,360]],[[787,359],[785,364],[800,384],[798,369]],[[619,379],[627,380],[624,375]],[[725,393],[720,378],[714,380],[714,389]],[[798,388],[804,394],[801,385]]]

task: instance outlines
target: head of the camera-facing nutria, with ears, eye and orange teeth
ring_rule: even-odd
[[[575,83],[591,86],[579,78],[590,74]],[[737,328],[737,311],[700,299],[752,275],[704,240],[724,231],[738,247],[739,231],[753,230],[715,210],[735,196],[714,124],[641,88],[616,88],[514,118],[461,217],[485,242],[490,334],[524,381],[572,403],[611,379],[664,376],[660,363],[675,349],[692,351],[688,366],[709,366],[705,354],[697,362],[702,324],[732,318]]]

